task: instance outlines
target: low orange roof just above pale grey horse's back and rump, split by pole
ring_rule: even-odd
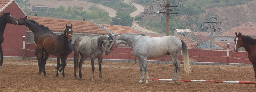
[[[165,34],[154,34],[154,33],[144,33],[147,36],[151,36],[151,37],[163,37],[166,36]],[[188,37],[183,37],[183,36],[178,36],[178,35],[172,35],[172,36],[176,36],[179,39],[183,40],[186,44],[188,48],[196,48],[197,47],[197,41],[188,38]]]

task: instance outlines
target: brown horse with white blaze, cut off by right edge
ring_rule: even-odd
[[[240,47],[244,47],[244,49],[248,52],[248,58],[252,62],[254,75],[256,79],[256,39],[242,35],[240,32],[237,34],[236,32],[236,38],[234,41],[236,45],[236,47],[234,48],[235,52],[238,52],[238,49]],[[256,84],[255,87],[253,87],[253,89],[256,89]]]

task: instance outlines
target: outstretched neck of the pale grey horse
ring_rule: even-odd
[[[116,36],[116,46],[119,44],[125,44],[128,45],[129,47],[133,48],[133,43],[136,41],[136,36],[135,35],[129,35],[129,34],[121,34]]]

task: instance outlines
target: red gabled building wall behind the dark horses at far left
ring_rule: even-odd
[[[15,0],[0,0],[0,15],[3,15],[4,12],[11,12],[13,17],[26,16]],[[23,56],[22,41],[23,36],[26,36],[26,29],[26,26],[6,25],[2,43],[4,56]]]

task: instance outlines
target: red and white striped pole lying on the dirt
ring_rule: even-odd
[[[159,81],[172,81],[172,79],[151,79]],[[177,81],[177,80],[175,80]],[[204,82],[204,83],[242,83],[242,84],[255,84],[255,82],[250,81],[217,81],[217,80],[180,80],[183,82]]]

